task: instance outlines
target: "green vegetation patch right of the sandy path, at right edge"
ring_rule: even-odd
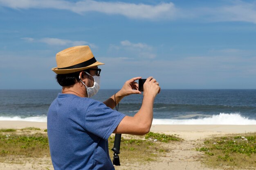
[[[210,167],[256,168],[256,133],[213,137],[196,150],[205,153],[204,163]]]

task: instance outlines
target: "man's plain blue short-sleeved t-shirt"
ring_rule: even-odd
[[[54,169],[115,169],[108,153],[108,137],[124,116],[97,100],[58,94],[47,115]]]

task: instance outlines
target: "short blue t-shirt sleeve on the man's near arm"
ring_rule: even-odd
[[[108,140],[111,133],[126,115],[107,107],[104,103],[92,100],[85,113],[85,129]]]

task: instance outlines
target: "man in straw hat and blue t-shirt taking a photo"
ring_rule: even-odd
[[[47,132],[52,163],[56,170],[115,169],[108,153],[111,133],[144,135],[153,120],[153,102],[159,83],[147,78],[143,102],[135,116],[126,116],[113,108],[122,98],[138,91],[135,77],[105,102],[90,99],[99,90],[103,65],[88,46],[67,48],[56,54],[57,67],[52,70],[62,86],[62,93],[49,107]]]

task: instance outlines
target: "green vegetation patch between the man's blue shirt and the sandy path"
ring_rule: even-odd
[[[164,156],[170,149],[164,143],[182,141],[177,135],[166,135],[160,133],[149,132],[139,137],[135,135],[125,135],[121,137],[119,157],[123,162],[145,163],[147,161],[157,161],[158,156]],[[115,137],[109,138],[109,153],[113,157]]]

